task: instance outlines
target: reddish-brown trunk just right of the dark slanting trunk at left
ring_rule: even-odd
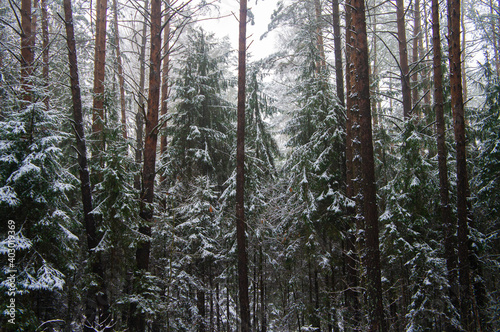
[[[96,153],[104,151],[104,76],[106,67],[106,11],[107,0],[96,2],[96,33],[94,53],[94,102],[92,106],[92,133]]]

